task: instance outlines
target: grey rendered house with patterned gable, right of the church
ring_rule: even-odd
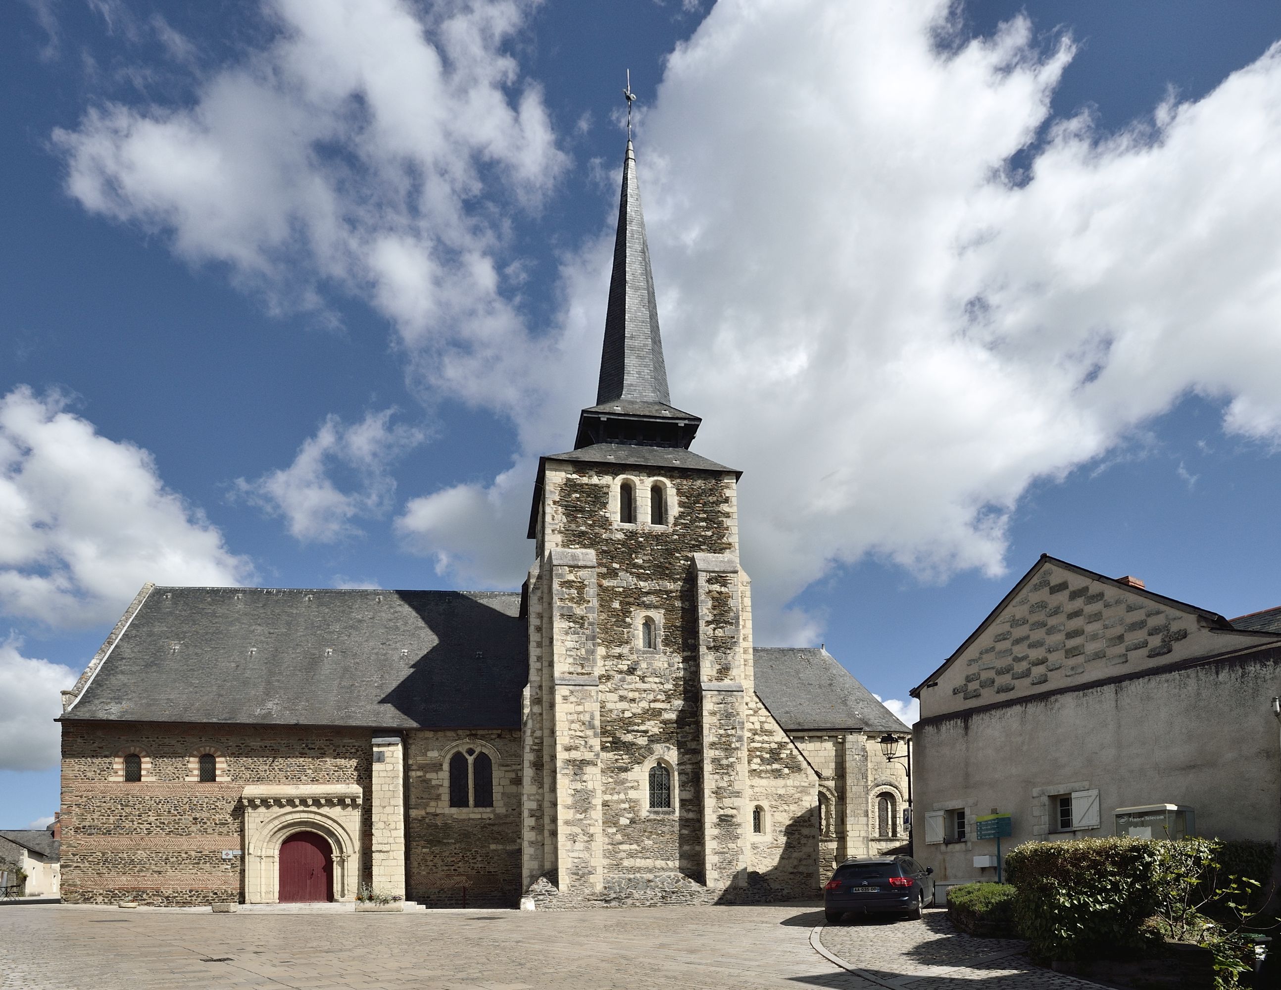
[[[1043,556],[922,684],[916,858],[995,879],[1030,839],[1276,841],[1281,608],[1239,619]]]

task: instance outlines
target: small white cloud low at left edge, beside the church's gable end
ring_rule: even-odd
[[[63,713],[60,692],[70,689],[76,675],[60,663],[22,656],[20,647],[12,637],[0,642],[0,770],[49,770],[59,759],[54,718]]]

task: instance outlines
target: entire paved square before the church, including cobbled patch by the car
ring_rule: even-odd
[[[956,935],[945,912],[921,922],[821,930],[812,905],[541,913],[202,914],[26,905],[0,911],[4,990],[361,987],[361,990],[1081,990],[1026,958],[975,959],[1021,943]],[[966,966],[968,963],[968,966]],[[959,972],[942,973],[951,967]],[[963,981],[963,982],[962,982]]]

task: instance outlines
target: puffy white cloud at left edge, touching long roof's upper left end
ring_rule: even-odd
[[[147,451],[100,437],[56,393],[0,398],[0,612],[83,625],[114,620],[149,580],[251,576]]]

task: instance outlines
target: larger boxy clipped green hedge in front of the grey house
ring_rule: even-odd
[[[1015,923],[1040,958],[1080,959],[1141,948],[1157,907],[1157,843],[1076,839],[1025,843],[1006,857]],[[951,897],[951,895],[949,895]]]

